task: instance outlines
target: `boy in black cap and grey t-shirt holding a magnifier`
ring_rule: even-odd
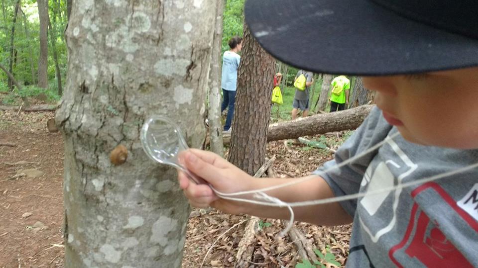
[[[274,12],[281,14],[280,21],[273,19]],[[248,0],[246,21],[270,54],[313,72],[362,75],[364,87],[376,91],[377,108],[339,148],[335,160],[310,175],[313,179],[267,194],[285,202],[329,198],[477,163],[477,12],[478,2],[468,0],[303,0],[300,5]],[[284,40],[301,40],[310,51],[289,51],[291,44]],[[379,149],[349,165],[328,169],[381,141],[385,143]],[[253,179],[200,150],[181,154],[181,161],[221,192],[295,180]],[[288,218],[286,208],[224,200],[207,185],[190,183],[183,173],[178,178],[194,206]],[[354,222],[347,267],[478,267],[476,169],[352,201],[296,207],[294,212],[297,220],[321,225]]]

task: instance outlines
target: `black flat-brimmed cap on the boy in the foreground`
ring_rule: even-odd
[[[316,73],[478,66],[478,0],[247,0],[244,12],[267,52]]]

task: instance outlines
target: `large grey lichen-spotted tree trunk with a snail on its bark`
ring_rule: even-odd
[[[190,207],[176,170],[146,156],[139,132],[163,115],[189,146],[203,143],[216,3],[73,2],[56,112],[66,268],[181,266]]]

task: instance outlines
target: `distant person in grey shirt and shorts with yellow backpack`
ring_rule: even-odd
[[[309,114],[310,86],[314,83],[312,72],[299,70],[294,79],[295,95],[292,102],[292,120],[297,118],[297,111],[302,111],[302,117]]]

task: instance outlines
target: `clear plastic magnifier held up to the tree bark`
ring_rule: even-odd
[[[179,164],[179,153],[189,147],[177,124],[166,117],[153,116],[144,122],[139,138],[149,158],[183,171],[196,184],[208,184]]]

